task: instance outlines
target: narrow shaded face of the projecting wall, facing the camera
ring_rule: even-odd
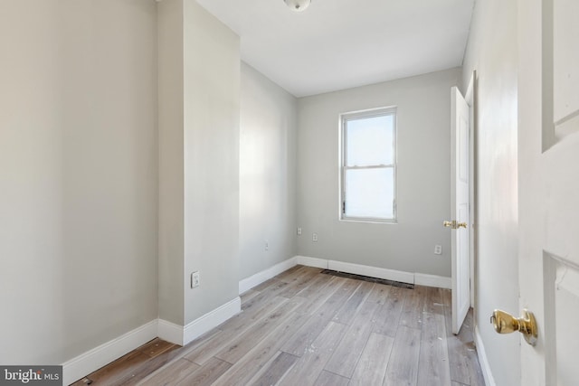
[[[157,5],[158,40],[158,310],[159,318],[182,325],[184,281],[183,2]]]

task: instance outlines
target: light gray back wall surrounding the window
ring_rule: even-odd
[[[300,255],[451,276],[451,233],[441,224],[451,214],[450,96],[459,83],[452,69],[299,99]],[[387,106],[398,108],[398,223],[339,221],[338,116]]]

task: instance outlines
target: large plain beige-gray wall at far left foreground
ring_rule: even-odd
[[[157,317],[153,0],[0,2],[0,362]]]

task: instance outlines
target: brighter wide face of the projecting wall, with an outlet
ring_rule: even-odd
[[[184,5],[186,325],[239,295],[241,60],[235,33],[194,0]]]

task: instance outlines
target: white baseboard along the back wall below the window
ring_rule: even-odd
[[[296,256],[296,259],[298,264],[302,266],[332,269],[339,272],[369,276],[371,278],[384,278],[386,280],[400,281],[402,283],[416,284],[419,286],[451,288],[451,278],[442,276],[377,268],[336,260],[309,258],[307,256]]]

